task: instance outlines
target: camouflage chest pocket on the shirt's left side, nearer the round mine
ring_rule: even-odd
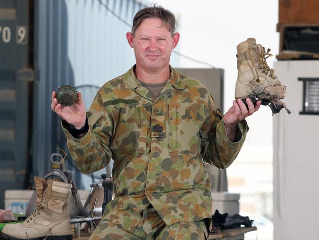
[[[137,104],[117,104],[118,121],[112,149],[120,153],[146,152],[148,132],[145,110]]]

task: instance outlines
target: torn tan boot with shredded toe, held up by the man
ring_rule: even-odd
[[[272,115],[282,108],[290,114],[286,104],[280,101],[285,97],[286,86],[282,86],[269,68],[266,59],[272,56],[265,48],[256,44],[255,38],[248,38],[237,46],[238,78],[235,98],[249,97],[253,103],[262,100],[263,105],[269,105]]]

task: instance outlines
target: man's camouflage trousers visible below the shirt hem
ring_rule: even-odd
[[[208,219],[197,222],[177,222],[167,226],[150,205],[142,211],[141,220],[133,230],[127,230],[109,220],[101,221],[89,240],[205,240]]]

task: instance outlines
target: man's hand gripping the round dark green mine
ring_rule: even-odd
[[[56,92],[53,91],[51,95],[52,103],[51,109],[62,119],[73,125],[76,129],[80,129],[85,125],[86,110],[82,99],[82,94],[78,93],[78,101],[71,106],[62,106],[57,102]]]

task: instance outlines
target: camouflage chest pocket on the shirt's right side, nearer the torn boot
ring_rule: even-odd
[[[203,122],[200,108],[195,103],[169,105],[169,151],[187,155],[200,152],[199,129]]]

